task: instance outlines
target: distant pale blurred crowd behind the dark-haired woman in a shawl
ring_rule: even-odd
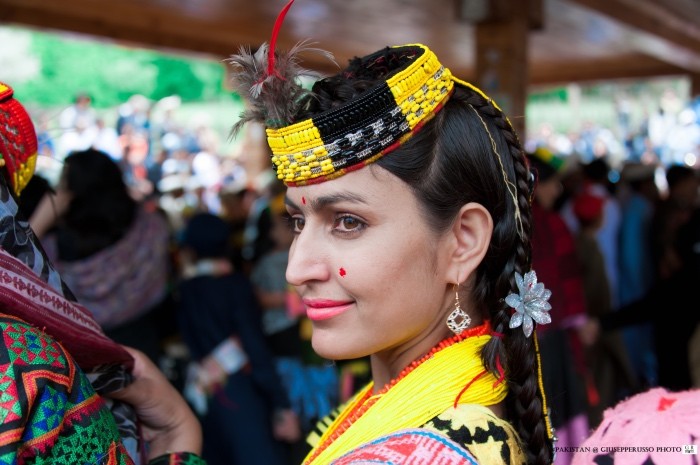
[[[66,156],[94,148],[120,166],[135,196],[173,194],[178,206],[218,212],[222,186],[252,184],[248,175],[257,175],[260,168],[251,154],[222,156],[230,155],[221,153],[226,135],[213,129],[209,115],[200,112],[183,123],[179,112],[177,96],[151,102],[137,94],[117,109],[98,112],[89,95],[78,94],[57,117],[37,114],[37,171],[56,184]],[[259,150],[252,157],[260,159]]]

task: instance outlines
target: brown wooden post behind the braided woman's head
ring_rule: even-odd
[[[475,25],[477,85],[508,115],[523,143],[528,34],[533,22],[541,25],[537,21],[541,15],[533,15],[530,10],[538,2],[541,0],[507,2],[508,7],[498,8],[495,18]]]

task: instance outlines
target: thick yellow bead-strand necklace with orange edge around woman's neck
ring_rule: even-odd
[[[481,350],[491,339],[485,334],[488,328],[486,323],[473,328],[479,335],[443,341],[378,394],[371,395],[373,384],[368,384],[323,435],[316,437],[304,465],[329,464],[380,436],[421,427],[456,403],[488,406],[501,402],[507,394],[506,383],[499,383],[481,362]]]

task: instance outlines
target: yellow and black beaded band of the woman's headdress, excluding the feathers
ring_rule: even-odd
[[[389,54],[402,69],[385,82],[330,111],[267,129],[279,179],[298,186],[361,168],[401,145],[442,107],[454,80],[435,54],[419,44],[392,47]],[[363,62],[386,59],[380,51]]]

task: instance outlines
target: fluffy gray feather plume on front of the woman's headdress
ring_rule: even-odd
[[[272,73],[268,73],[267,69],[267,43],[262,44],[255,53],[244,46],[238,54],[231,55],[227,61],[234,68],[234,87],[248,103],[241,119],[233,126],[232,135],[249,121],[262,122],[270,128],[280,128],[294,122],[302,97],[311,93],[299,84],[299,78],[320,76],[299,65],[302,52],[319,53],[335,63],[330,52],[311,47],[308,41],[299,42],[288,52],[276,52]]]

